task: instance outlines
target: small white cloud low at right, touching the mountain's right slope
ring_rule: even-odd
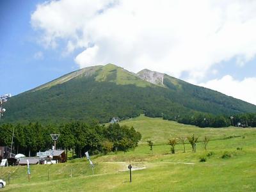
[[[224,76],[221,79],[213,79],[198,85],[211,88],[226,95],[245,100],[256,105],[256,77],[247,77],[237,81],[232,76]]]

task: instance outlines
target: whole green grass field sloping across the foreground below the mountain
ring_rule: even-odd
[[[31,166],[30,182],[26,166],[1,168],[0,178],[6,182],[10,174],[10,184],[1,191],[256,191],[256,129],[198,128],[145,116],[121,124],[141,132],[139,147],[125,154],[92,157],[95,175],[85,158]],[[189,144],[184,153],[179,144],[176,153],[170,154],[169,138],[191,134],[200,136],[196,153]],[[211,138],[207,151],[201,142],[204,136]],[[153,152],[148,139],[154,141]],[[221,158],[225,153],[230,157]],[[200,157],[207,161],[199,162]],[[129,163],[136,168],[131,183]]]

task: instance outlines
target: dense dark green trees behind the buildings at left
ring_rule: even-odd
[[[36,152],[49,150],[53,141],[50,134],[60,134],[56,148],[72,150],[72,156],[82,157],[90,154],[107,154],[124,151],[138,146],[140,132],[134,127],[119,124],[100,125],[97,122],[71,122],[67,124],[43,125],[38,122],[29,124],[1,124],[0,146],[12,146],[16,154],[35,156]],[[74,155],[76,153],[76,156]]]

